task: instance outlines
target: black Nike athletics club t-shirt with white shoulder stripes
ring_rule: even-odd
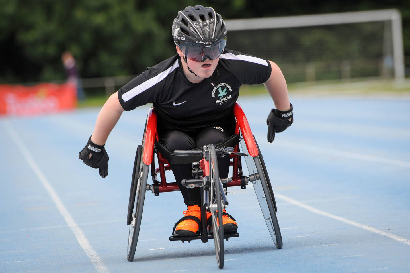
[[[175,55],[121,87],[118,99],[127,111],[153,103],[161,130],[197,131],[234,122],[239,87],[264,83],[270,75],[269,61],[225,49],[212,76],[191,83]]]

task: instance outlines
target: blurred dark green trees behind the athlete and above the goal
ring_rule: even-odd
[[[0,0],[0,5],[0,83],[63,80],[65,50],[83,78],[139,74],[175,54],[171,24],[188,5],[214,7],[225,19],[395,7],[403,16],[410,56],[408,0]]]

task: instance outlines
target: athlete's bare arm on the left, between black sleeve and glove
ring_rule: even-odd
[[[104,145],[123,112],[124,109],[118,100],[117,92],[115,92],[108,98],[98,114],[91,141],[97,145]]]

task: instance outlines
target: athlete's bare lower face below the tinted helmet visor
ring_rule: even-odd
[[[178,55],[184,58],[185,57],[184,53],[182,53],[182,51],[178,47],[176,47],[176,49],[177,49]],[[216,66],[218,65],[218,62],[219,62],[219,57],[216,58],[215,60],[210,60],[209,58],[207,58],[203,62],[193,61],[189,58],[186,58],[186,60],[188,62],[189,68],[198,76],[195,76],[188,69],[184,69],[185,76],[187,76],[189,80],[196,79],[196,78],[197,78],[196,80],[202,80],[203,78],[209,78],[212,75],[212,73],[214,73]],[[184,67],[186,65],[183,60],[182,60],[182,65]]]

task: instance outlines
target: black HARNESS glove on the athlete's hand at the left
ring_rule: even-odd
[[[92,154],[89,159],[90,153]],[[106,177],[108,174],[108,154],[105,151],[104,145],[96,145],[91,141],[91,136],[88,139],[87,145],[84,149],[78,153],[78,158],[82,160],[86,165],[93,167],[94,169],[100,168],[100,176]]]

